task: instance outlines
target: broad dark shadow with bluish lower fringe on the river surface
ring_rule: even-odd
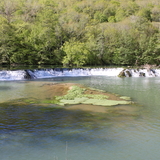
[[[97,135],[104,122],[106,125],[108,120],[102,113],[92,114],[56,106],[18,106],[12,103],[1,103],[0,110],[0,139],[5,144],[19,141],[25,145],[37,146],[46,143],[44,139],[48,138],[92,144],[107,141],[106,138]]]

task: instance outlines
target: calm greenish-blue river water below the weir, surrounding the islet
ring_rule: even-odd
[[[135,104],[110,113],[12,103],[41,98],[44,83],[78,83]],[[44,94],[44,93],[43,93]],[[160,77],[68,77],[0,82],[1,160],[157,160]]]

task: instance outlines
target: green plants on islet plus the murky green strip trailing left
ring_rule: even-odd
[[[88,92],[90,94],[88,94]],[[111,98],[112,97],[112,98]],[[14,101],[13,101],[14,102]],[[71,86],[67,93],[63,96],[53,96],[52,98],[46,99],[36,99],[27,98],[19,99],[14,103],[16,104],[36,104],[42,106],[54,105],[54,107],[62,107],[65,105],[77,105],[77,104],[87,104],[87,105],[98,105],[98,106],[115,106],[119,104],[132,104],[130,97],[126,96],[116,96],[114,94],[109,94],[101,90],[82,88],[77,85]]]

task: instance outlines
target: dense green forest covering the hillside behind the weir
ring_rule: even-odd
[[[160,64],[159,0],[1,0],[0,64]]]

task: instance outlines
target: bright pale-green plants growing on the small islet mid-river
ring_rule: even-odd
[[[91,94],[88,94],[88,92]],[[59,105],[75,105],[75,104],[90,104],[90,105],[100,105],[100,106],[115,106],[119,104],[131,104],[126,98],[126,101],[122,100],[124,97],[115,97],[116,99],[109,99],[110,97],[104,92],[82,88],[76,85],[73,85],[68,93],[64,96],[57,96],[56,99],[59,101]]]

